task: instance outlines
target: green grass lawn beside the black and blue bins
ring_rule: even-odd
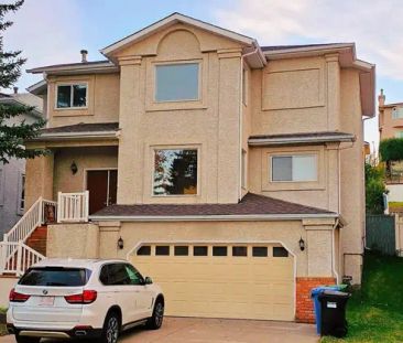
[[[403,342],[403,258],[367,255],[362,288],[347,308],[346,339],[323,337],[322,343]]]

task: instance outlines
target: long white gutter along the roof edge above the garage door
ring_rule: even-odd
[[[299,221],[306,218],[337,218],[337,213],[317,214],[230,214],[230,215],[90,215],[91,221],[119,221],[119,222],[249,222],[249,221]]]

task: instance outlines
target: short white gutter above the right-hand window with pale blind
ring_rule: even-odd
[[[322,136],[322,137],[284,137],[284,138],[250,138],[249,146],[265,146],[265,144],[291,144],[291,143],[317,143],[317,142],[353,142],[355,135],[338,135],[338,136]]]

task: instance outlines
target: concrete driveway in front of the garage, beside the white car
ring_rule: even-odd
[[[317,343],[314,325],[288,322],[165,318],[157,331],[133,329],[121,336],[121,343]],[[13,336],[0,343],[15,342]],[[51,342],[51,341],[46,341]],[[61,341],[58,341],[61,342]]]

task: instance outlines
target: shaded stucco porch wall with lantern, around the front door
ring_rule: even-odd
[[[73,174],[72,163],[77,165]],[[87,170],[118,168],[117,147],[66,148],[55,152],[53,196],[57,192],[70,193],[86,190]]]

